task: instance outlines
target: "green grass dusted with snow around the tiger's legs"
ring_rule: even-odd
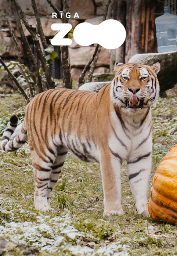
[[[176,143],[177,88],[153,107],[153,158],[155,169]],[[1,95],[0,95],[1,97]],[[1,97],[0,133],[10,115],[24,116],[18,94]],[[100,165],[78,161],[69,154],[54,187],[50,212],[33,204],[33,170],[28,144],[18,151],[0,150],[0,239],[28,244],[38,255],[177,255],[176,226],[135,215],[132,193],[122,166],[124,215],[103,216]],[[23,255],[8,249],[6,255]]]

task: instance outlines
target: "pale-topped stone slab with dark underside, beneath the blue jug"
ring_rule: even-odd
[[[128,62],[139,63],[151,66],[159,62],[160,71],[158,80],[160,91],[166,91],[177,84],[177,51],[166,53],[145,53],[136,54]]]

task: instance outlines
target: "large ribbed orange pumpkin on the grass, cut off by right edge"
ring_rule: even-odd
[[[177,223],[177,144],[168,151],[156,169],[148,211],[152,219]]]

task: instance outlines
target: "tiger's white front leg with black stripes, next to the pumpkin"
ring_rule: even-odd
[[[134,196],[135,213],[148,213],[148,185],[151,173],[151,152],[127,162],[127,174]]]

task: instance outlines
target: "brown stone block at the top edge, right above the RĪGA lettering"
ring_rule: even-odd
[[[70,2],[70,13],[72,17],[77,12],[79,19],[89,19],[94,17],[94,4],[90,0],[75,0]],[[77,18],[78,19],[78,18]]]

